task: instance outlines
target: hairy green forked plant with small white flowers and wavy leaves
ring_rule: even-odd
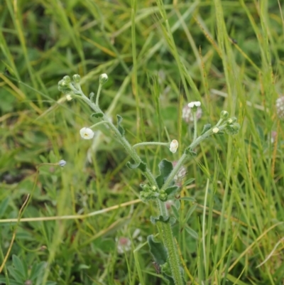
[[[185,147],[185,150],[180,157],[180,159],[175,163],[163,159],[159,163],[160,175],[155,177],[153,173],[148,168],[145,161],[142,160],[136,148],[139,146],[151,146],[160,145],[169,147],[170,151],[174,154],[178,149],[178,141],[173,139],[171,142],[140,142],[131,146],[129,141],[126,140],[124,128],[121,126],[122,117],[117,115],[117,126],[115,126],[111,120],[104,114],[102,109],[99,107],[99,95],[102,90],[102,86],[107,82],[108,77],[106,74],[102,74],[99,77],[99,88],[97,92],[97,97],[94,102],[94,93],[91,93],[90,97],[87,97],[82,92],[80,86],[80,75],[73,75],[73,80],[69,76],[63,77],[60,82],[58,82],[58,89],[67,95],[67,100],[70,98],[80,98],[86,102],[91,109],[93,109],[94,114],[92,116],[99,119],[97,124],[91,127],[83,127],[80,130],[80,135],[83,139],[92,139],[94,136],[94,131],[97,126],[101,124],[106,124],[109,127],[110,134],[114,134],[116,139],[124,146],[126,152],[131,156],[133,162],[128,162],[127,166],[131,169],[138,169],[142,171],[143,176],[146,178],[146,183],[141,184],[140,197],[143,202],[148,202],[154,200],[158,205],[158,216],[151,217],[151,222],[153,224],[158,224],[161,231],[163,232],[163,243],[156,242],[153,239],[153,235],[148,237],[148,244],[150,247],[151,254],[155,261],[156,266],[160,269],[161,274],[170,281],[170,284],[185,284],[183,277],[183,270],[180,267],[180,257],[178,255],[178,249],[175,244],[175,239],[173,237],[172,225],[176,222],[175,217],[171,217],[168,213],[168,208],[166,207],[166,202],[171,200],[178,195],[180,192],[180,187],[175,183],[177,177],[182,168],[184,168],[185,162],[192,156],[195,156],[195,148],[201,141],[207,139],[208,136],[212,134],[236,134],[239,131],[239,124],[236,123],[236,118],[228,117],[228,112],[222,111],[219,122],[215,126],[211,124],[206,124],[203,128],[200,136],[197,136],[197,108],[201,106],[201,102],[190,102],[187,106],[192,110],[193,122],[194,122],[194,137],[191,144]]]

